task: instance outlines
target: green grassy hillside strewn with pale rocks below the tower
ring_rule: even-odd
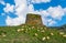
[[[0,43],[66,43],[66,32],[46,26],[0,26]]]

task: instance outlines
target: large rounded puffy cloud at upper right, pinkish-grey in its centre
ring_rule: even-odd
[[[47,11],[53,19],[62,20],[62,17],[65,15],[64,9],[61,6],[50,7]]]

